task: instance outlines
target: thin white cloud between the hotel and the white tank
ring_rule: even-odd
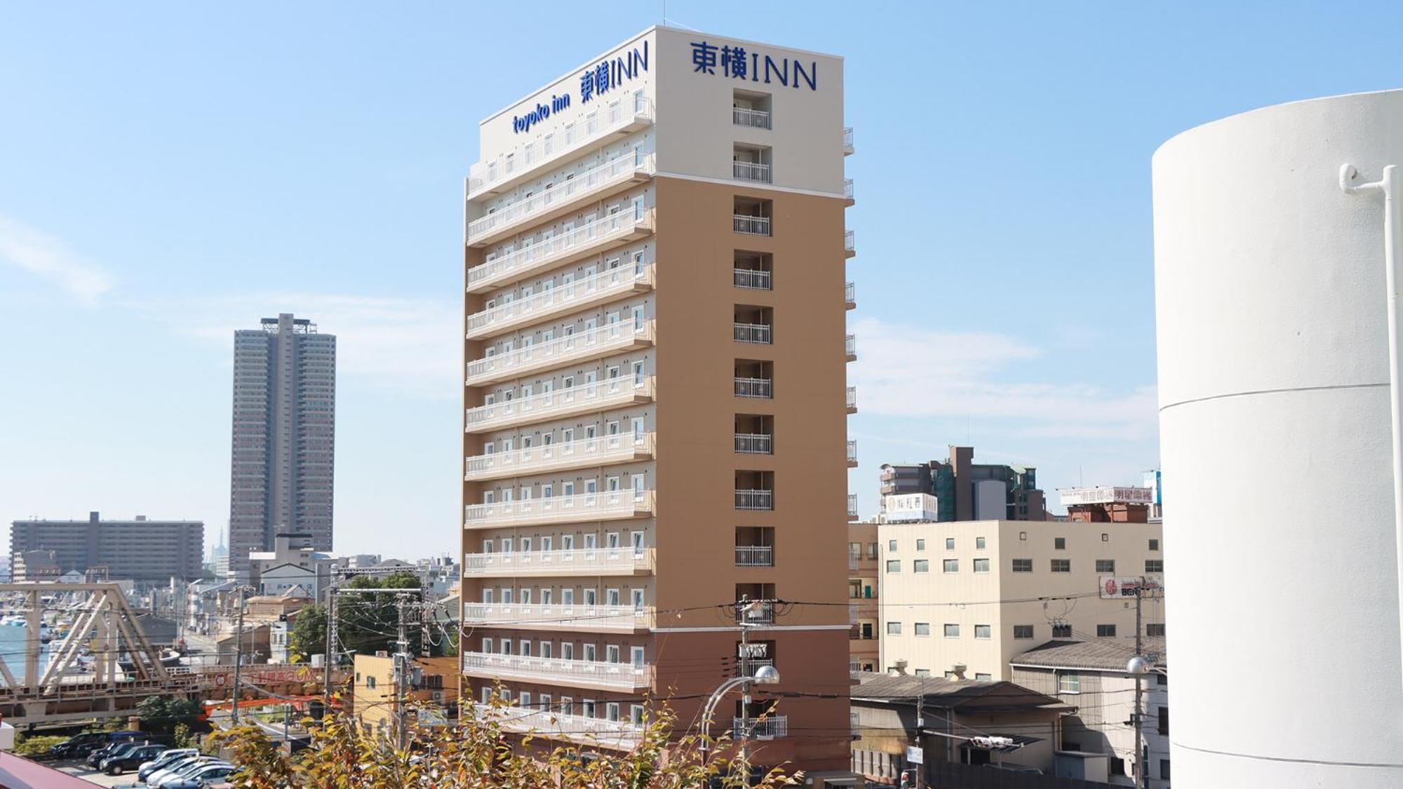
[[[1110,392],[1090,382],[1020,380],[1019,365],[1042,351],[1014,337],[881,319],[860,320],[853,331],[853,382],[866,414],[998,420],[1030,438],[1155,434],[1153,386]]]

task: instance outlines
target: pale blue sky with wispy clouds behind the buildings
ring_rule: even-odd
[[[340,336],[337,549],[453,550],[477,121],[661,8],[0,7],[0,519],[189,517],[213,539],[231,331],[292,310]],[[847,59],[863,512],[881,463],[953,442],[1048,490],[1138,482],[1157,462],[1155,147],[1403,74],[1396,1],[668,18]]]

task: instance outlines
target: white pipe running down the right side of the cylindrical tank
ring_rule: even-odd
[[[1403,368],[1403,338],[1399,337],[1399,261],[1403,247],[1399,232],[1403,222],[1397,215],[1399,171],[1396,164],[1383,168],[1378,181],[1358,184],[1360,170],[1354,164],[1340,166],[1340,188],[1345,194],[1383,192],[1383,271],[1389,295],[1389,414],[1393,421],[1393,548],[1397,552],[1399,584],[1399,644],[1403,647],[1403,392],[1399,389],[1399,369]]]

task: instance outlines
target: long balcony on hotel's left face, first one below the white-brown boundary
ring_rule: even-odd
[[[467,292],[485,293],[532,274],[626,244],[652,233],[652,211],[620,211],[521,247],[467,270]]]

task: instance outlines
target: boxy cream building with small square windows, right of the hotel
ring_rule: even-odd
[[[882,524],[881,664],[906,672],[1012,679],[1009,660],[1049,639],[1135,643],[1134,598],[1107,578],[1164,571],[1160,524],[953,521]],[[1145,635],[1164,635],[1162,595]]]

